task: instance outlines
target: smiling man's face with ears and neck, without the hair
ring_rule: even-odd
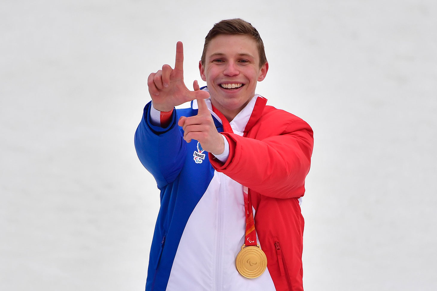
[[[232,121],[255,95],[257,81],[264,80],[268,63],[260,62],[253,37],[217,35],[209,42],[199,69],[213,96],[212,105]]]

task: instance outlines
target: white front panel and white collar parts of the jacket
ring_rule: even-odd
[[[230,122],[234,133],[243,135],[256,98]],[[207,100],[206,104],[212,111],[211,101]],[[193,108],[196,107],[194,100]],[[274,291],[268,269],[254,279],[247,279],[236,270],[235,258],[245,232],[243,186],[215,171],[208,189],[188,218],[166,290]]]

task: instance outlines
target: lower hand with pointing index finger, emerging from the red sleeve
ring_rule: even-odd
[[[193,83],[194,92],[201,92],[199,84],[195,80]],[[215,128],[214,120],[208,110],[208,106],[204,99],[198,99],[198,113],[195,116],[179,118],[178,125],[184,129],[184,139],[191,142],[195,139],[200,142],[205,151],[211,152],[214,155],[222,154],[225,151],[225,142],[217,128]]]

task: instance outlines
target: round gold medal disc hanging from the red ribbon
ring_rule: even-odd
[[[243,244],[235,259],[238,273],[246,278],[260,277],[267,267],[267,256],[260,246]]]

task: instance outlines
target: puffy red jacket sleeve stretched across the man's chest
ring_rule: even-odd
[[[222,133],[229,142],[229,158],[223,164],[210,154],[212,166],[261,195],[303,196],[312,155],[312,129],[302,119],[280,125],[273,124],[267,132],[265,126],[264,130],[254,126],[247,137]]]

